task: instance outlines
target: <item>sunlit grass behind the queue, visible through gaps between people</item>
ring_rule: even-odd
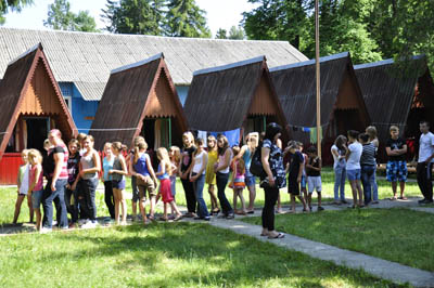
[[[322,172],[322,188],[323,188],[323,198],[326,201],[332,200],[333,199],[333,184],[334,183],[334,174],[332,169],[330,168],[324,168]],[[379,198],[384,199],[388,198],[392,196],[392,189],[391,185],[388,182],[384,180],[379,180]],[[204,189],[204,199],[206,204],[208,205],[208,209],[210,209],[210,200],[209,200],[209,194],[207,193],[207,185],[205,185]],[[131,181],[127,179],[127,186],[126,191],[128,193],[131,193]],[[186,197],[182,188],[181,181],[178,179],[177,185],[176,185],[176,191],[177,191],[177,196],[176,196],[176,201],[180,206],[187,206],[186,202]],[[216,195],[217,195],[217,189],[216,189]],[[233,199],[233,193],[231,188],[226,189],[226,195],[229,199],[229,201],[232,204]],[[347,183],[345,186],[345,195],[346,198],[352,198],[352,192],[349,188],[349,184]],[[406,195],[410,197],[416,197],[420,196],[421,193],[419,191],[418,184],[414,182],[408,182],[406,185]],[[316,194],[314,193],[314,202],[316,202]],[[247,189],[244,189],[244,198],[246,201],[248,201],[248,192]],[[282,205],[288,205],[290,202],[290,196],[286,193],[286,188],[281,189],[281,199],[282,199]],[[0,187],[0,209],[1,209],[1,214],[0,214],[0,224],[4,223],[10,223],[12,222],[13,219],[13,212],[14,212],[14,205],[16,200],[16,188],[4,188]],[[240,205],[240,204],[239,204]],[[247,205],[247,202],[246,202]],[[256,185],[256,201],[255,201],[255,207],[260,208],[264,206],[264,191],[259,187],[259,185]],[[127,200],[127,207],[128,207],[128,213],[131,214],[131,202],[130,200]],[[97,193],[97,211],[99,217],[103,215],[108,215],[108,211],[106,209],[105,202],[104,202],[104,195],[103,193]],[[161,212],[161,209],[158,210]],[[18,222],[24,222],[28,221],[28,209],[27,205],[23,204],[22,208],[22,213],[20,215]]]

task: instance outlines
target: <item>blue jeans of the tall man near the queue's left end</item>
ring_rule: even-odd
[[[66,205],[65,205],[65,185],[67,179],[59,179],[55,182],[55,191],[51,191],[51,180],[47,182],[46,189],[42,195],[42,207],[44,213],[43,226],[47,228],[52,228],[53,226],[53,200],[59,202],[59,226],[67,227],[67,215],[66,215]]]

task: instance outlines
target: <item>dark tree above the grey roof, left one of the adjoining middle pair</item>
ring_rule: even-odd
[[[164,35],[164,0],[107,0],[102,17],[111,32]]]

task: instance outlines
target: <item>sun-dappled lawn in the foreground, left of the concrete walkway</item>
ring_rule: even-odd
[[[207,224],[0,238],[2,287],[400,287]]]

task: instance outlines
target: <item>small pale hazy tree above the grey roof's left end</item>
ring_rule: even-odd
[[[55,0],[49,5],[48,18],[43,22],[46,27],[54,30],[94,32],[97,23],[89,11],[79,11],[75,14],[71,11],[68,0]]]

